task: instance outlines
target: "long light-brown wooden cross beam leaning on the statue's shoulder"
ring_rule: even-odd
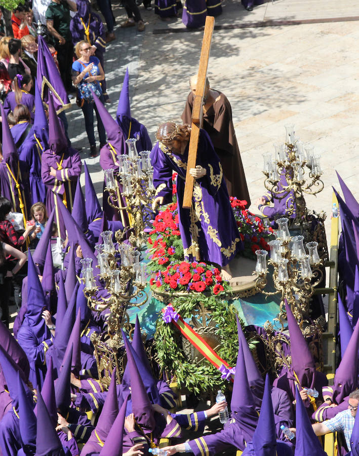
[[[210,56],[212,32],[214,28],[214,17],[207,16],[205,32],[202,41],[202,50],[200,57],[200,66],[198,68],[196,93],[193,100],[191,136],[189,138],[188,162],[186,172],[186,183],[184,186],[184,197],[182,207],[189,209],[192,203],[193,180],[189,174],[191,168],[195,168],[197,159],[198,139],[200,139],[200,128],[203,117],[203,96],[206,88],[206,76],[208,68],[208,59]]]

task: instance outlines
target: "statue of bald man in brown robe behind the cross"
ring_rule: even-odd
[[[182,120],[191,124],[193,98],[197,84],[197,75],[190,78],[191,92],[188,95],[186,106],[182,113]],[[206,81],[203,106],[203,128],[209,134],[214,149],[223,168],[223,175],[227,184],[229,196],[240,200],[246,200],[251,204],[249,197],[246,175],[243,169],[240,149],[235,138],[232,121],[232,108],[227,97],[210,88]]]

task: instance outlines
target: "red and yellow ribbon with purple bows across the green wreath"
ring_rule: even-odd
[[[222,372],[222,378],[228,379],[233,382],[234,368],[231,368],[229,364],[224,361],[217,353],[207,344],[207,342],[197,334],[193,328],[186,323],[183,318],[175,311],[172,304],[169,304],[162,309],[164,315],[162,319],[166,323],[173,323],[181,333],[186,337],[187,340],[200,352],[202,355],[213,364],[220,372]]]

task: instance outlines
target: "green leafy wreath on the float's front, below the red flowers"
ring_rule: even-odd
[[[188,295],[173,298],[172,305],[179,315],[186,319],[193,314],[193,308],[200,303],[211,311],[216,322],[216,334],[222,344],[217,354],[231,367],[235,366],[238,353],[237,324],[235,310],[226,300],[217,296]],[[242,327],[243,322],[241,321]],[[221,373],[207,359],[197,365],[191,364],[183,353],[180,331],[172,324],[159,318],[156,323],[154,344],[158,363],[176,378],[178,388],[185,388],[195,394],[210,393],[227,387],[228,381],[221,378]]]

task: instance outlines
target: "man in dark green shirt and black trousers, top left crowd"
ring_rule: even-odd
[[[46,24],[57,50],[62,82],[67,92],[74,93],[76,89],[72,87],[71,82],[73,48],[70,32],[70,10],[77,11],[75,2],[71,0],[66,0],[66,2],[52,0],[46,10]]]

